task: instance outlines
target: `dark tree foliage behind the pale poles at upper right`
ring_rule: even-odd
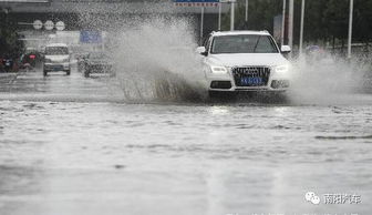
[[[249,0],[248,22],[245,21],[246,0],[238,0],[236,29],[269,30],[273,18],[281,14],[282,0]],[[350,0],[306,0],[304,40],[308,42],[344,42],[348,38]],[[288,11],[288,3],[287,3]],[[299,38],[301,0],[294,0],[294,42]],[[372,0],[354,0],[353,41],[372,40]],[[223,19],[223,30],[230,25],[230,13]]]

